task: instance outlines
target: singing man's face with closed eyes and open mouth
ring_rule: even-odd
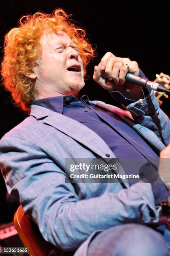
[[[35,68],[35,89],[41,97],[76,95],[84,87],[83,61],[79,49],[63,31],[47,33],[40,38],[42,45],[39,66]]]

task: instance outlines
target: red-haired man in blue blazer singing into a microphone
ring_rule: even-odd
[[[170,141],[170,121],[154,94],[125,81],[127,72],[143,76],[136,61],[107,52],[100,61],[107,79],[94,67],[94,81],[128,112],[78,95],[93,57],[85,31],[62,9],[27,15],[6,35],[3,82],[30,113],[0,141],[8,192],[46,241],[75,256],[169,255],[166,225],[140,224],[159,222],[169,196],[163,182],[66,182],[65,159],[140,159],[146,164],[133,166],[139,174],[158,166]]]

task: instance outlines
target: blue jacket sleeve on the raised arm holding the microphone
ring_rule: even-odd
[[[136,123],[153,131],[165,146],[168,145],[170,142],[170,120],[160,109],[153,90],[150,90],[147,97],[136,102],[127,99],[118,91],[110,92],[110,95],[114,100],[126,105],[126,109],[130,111]]]

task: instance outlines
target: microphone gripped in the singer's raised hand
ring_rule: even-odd
[[[100,69],[100,63],[98,65],[98,67]],[[101,74],[102,78],[107,79],[107,75],[106,75],[104,70],[100,69],[100,74]],[[137,77],[137,76],[135,76],[134,74],[132,74],[130,72],[127,73],[125,79],[126,79],[127,82],[137,84],[137,85],[139,85],[141,87],[144,87],[144,88],[150,88],[150,89],[152,89],[154,91],[157,91],[157,92],[170,92],[170,90],[167,90],[162,85],[160,85],[158,83],[155,83],[155,82],[151,82],[150,80],[145,80],[142,77]]]

